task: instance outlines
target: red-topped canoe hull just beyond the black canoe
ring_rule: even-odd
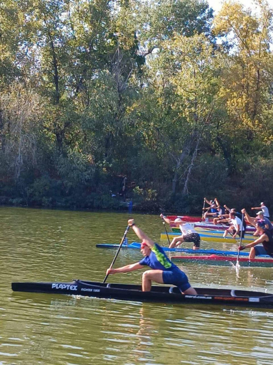
[[[210,255],[210,256],[172,256],[171,261],[175,262],[190,262],[190,263],[198,263],[198,264],[207,264],[207,265],[217,265],[217,266],[234,266],[237,262],[237,257],[235,256],[219,256],[219,255]],[[253,258],[249,259],[248,257],[240,257],[239,265],[246,267],[273,267],[273,259],[261,259],[261,258]]]

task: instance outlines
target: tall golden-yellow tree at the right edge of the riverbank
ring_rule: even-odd
[[[272,143],[273,10],[267,1],[257,5],[259,12],[253,13],[240,3],[226,2],[214,19],[215,34],[230,45],[221,87],[228,114],[222,128],[230,136],[225,144],[219,134],[223,153],[231,140],[237,155],[239,149],[251,152],[257,139]]]

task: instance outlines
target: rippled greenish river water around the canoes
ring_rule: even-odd
[[[128,218],[127,213],[0,207],[0,365],[272,365],[273,310],[11,291],[12,281],[102,281],[115,251],[95,245],[119,243]],[[159,240],[158,216],[134,218]],[[128,238],[137,240],[133,232]],[[133,250],[121,252],[116,267],[141,257]],[[241,268],[239,274],[233,267],[187,264],[183,269],[195,286],[273,292],[270,268]],[[139,271],[108,281],[140,280]]]

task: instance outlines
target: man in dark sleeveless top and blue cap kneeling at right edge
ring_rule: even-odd
[[[258,220],[256,222],[256,230],[260,237],[245,246],[239,246],[238,250],[241,251],[245,248],[250,248],[249,259],[255,258],[256,255],[269,255],[273,257],[273,237],[269,230],[266,229],[263,220]],[[262,246],[257,246],[258,243],[262,243]]]

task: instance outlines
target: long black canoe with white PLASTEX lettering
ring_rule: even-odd
[[[177,287],[152,286],[142,292],[140,285],[103,284],[92,281],[12,283],[15,292],[85,295],[97,298],[133,300],[137,302],[231,304],[251,307],[272,307],[273,294],[234,289],[195,288],[197,295],[181,294]]]

